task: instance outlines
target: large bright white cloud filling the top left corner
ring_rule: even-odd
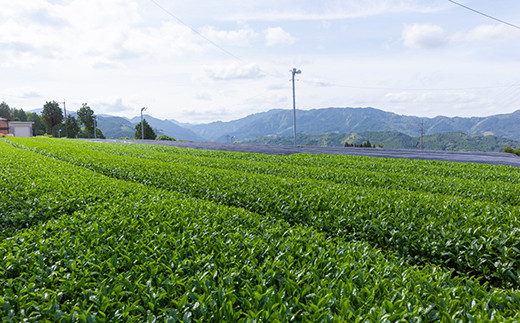
[[[128,58],[165,59],[208,47],[186,26],[171,21],[142,25],[138,1],[28,0],[4,9],[9,15],[0,20],[0,44],[12,54],[0,53],[2,65],[30,67],[58,58],[113,68]]]

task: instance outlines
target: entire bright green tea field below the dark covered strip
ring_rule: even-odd
[[[520,321],[520,168],[0,141],[3,321]]]

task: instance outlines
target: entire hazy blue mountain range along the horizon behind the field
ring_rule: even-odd
[[[247,141],[262,136],[292,136],[293,111],[274,109],[247,117],[207,124],[184,124],[144,116],[157,134],[189,141]],[[520,110],[488,117],[421,118],[385,112],[374,108],[324,108],[297,110],[298,134],[397,132],[419,136],[421,123],[424,134],[462,132],[467,135],[493,135],[520,141]],[[100,115],[98,127],[107,138],[132,138],[140,117],[132,119]]]

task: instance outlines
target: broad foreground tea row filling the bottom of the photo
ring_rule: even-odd
[[[29,165],[46,159],[22,150],[9,154]],[[16,168],[6,165],[4,171]],[[52,220],[0,242],[5,321],[520,318],[518,292],[432,266],[408,266],[366,243],[60,161],[49,159],[46,166],[25,171],[71,186],[84,185],[84,177],[93,184],[84,192],[106,203],[72,214],[55,210]],[[67,168],[82,174],[78,182],[67,177]],[[5,173],[16,181],[16,173]],[[98,183],[110,190],[99,191]],[[64,195],[71,186],[53,189]],[[23,194],[23,186],[12,189]]]

